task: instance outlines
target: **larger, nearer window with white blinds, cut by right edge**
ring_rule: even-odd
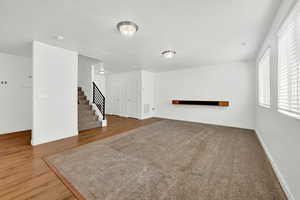
[[[278,32],[278,111],[300,119],[300,3]]]

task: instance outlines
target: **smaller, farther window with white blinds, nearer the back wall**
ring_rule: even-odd
[[[258,63],[258,104],[270,107],[270,49],[268,49]]]

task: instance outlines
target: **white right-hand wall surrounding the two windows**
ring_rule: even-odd
[[[277,112],[277,30],[295,0],[283,1],[260,50],[271,47],[271,108],[256,108],[256,132],[289,199],[300,199],[300,121]]]

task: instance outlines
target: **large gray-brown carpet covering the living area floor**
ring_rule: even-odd
[[[286,199],[250,130],[163,120],[47,161],[88,200]]]

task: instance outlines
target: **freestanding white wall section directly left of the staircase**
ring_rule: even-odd
[[[33,42],[32,145],[78,134],[77,52]]]

